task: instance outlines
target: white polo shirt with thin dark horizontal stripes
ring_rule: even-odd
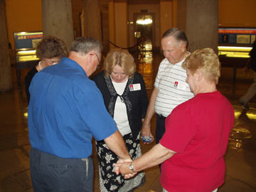
[[[184,60],[173,65],[164,58],[159,65],[154,82],[154,87],[159,89],[156,95],[155,111],[164,117],[167,117],[177,105],[193,97],[186,82],[186,70],[181,67]]]

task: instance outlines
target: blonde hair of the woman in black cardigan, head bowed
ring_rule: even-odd
[[[129,78],[134,75],[136,70],[136,65],[132,55],[127,50],[120,48],[112,49],[107,53],[107,57],[104,61],[105,76],[110,76],[115,65],[119,65],[123,68],[124,73],[129,75]]]

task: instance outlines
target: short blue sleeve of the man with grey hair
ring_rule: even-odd
[[[114,119],[107,112],[102,94],[95,82],[90,81],[90,86],[79,86],[77,107],[86,127],[97,141],[105,139],[117,131]]]

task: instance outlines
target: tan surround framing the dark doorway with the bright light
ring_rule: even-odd
[[[134,23],[134,14],[141,13],[142,9],[148,10],[149,14],[154,14],[154,38],[153,38],[153,46],[159,47],[160,43],[160,14],[159,14],[159,4],[136,4],[129,5],[129,47],[134,46],[136,44],[136,40],[134,39],[135,25]],[[146,14],[146,13],[145,13]],[[133,23],[131,23],[133,22]]]

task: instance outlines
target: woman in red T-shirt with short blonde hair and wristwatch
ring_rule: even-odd
[[[178,105],[166,118],[160,143],[132,163],[115,164],[125,175],[161,164],[161,184],[166,191],[217,191],[225,181],[224,155],[235,114],[217,90],[220,62],[211,48],[196,50],[182,64],[191,100]]]

